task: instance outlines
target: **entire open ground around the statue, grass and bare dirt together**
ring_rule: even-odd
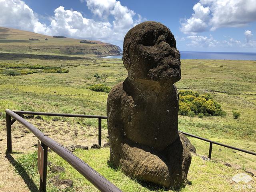
[[[123,81],[127,71],[122,60],[106,59],[94,55],[50,55],[0,53],[0,73],[8,70],[22,70],[22,66],[51,66],[67,69],[68,73],[37,72],[27,75],[9,76],[0,74],[0,191],[34,191],[38,186],[37,172],[37,139],[26,128],[16,122],[13,126],[14,153],[5,157],[6,130],[5,112],[11,110],[28,110],[41,112],[60,112],[106,116],[105,92],[94,92],[88,89],[94,84],[113,87]],[[255,61],[229,60],[182,60],[182,79],[176,83],[178,90],[194,90],[210,93],[214,100],[221,104],[226,116],[208,116],[203,118],[179,116],[179,130],[197,136],[222,142],[238,148],[255,152],[256,148],[256,71]],[[26,68],[27,69],[27,68]],[[23,69],[23,70],[26,70]],[[95,75],[97,74],[97,75]],[[232,112],[240,112],[234,119]],[[97,143],[98,122],[82,118],[30,118],[36,127],[48,136],[68,147],[80,144],[90,146]],[[102,143],[108,141],[106,121],[102,122]],[[209,143],[189,138],[200,155],[208,154]],[[110,182],[123,191],[164,191],[151,184],[136,182],[125,176],[121,170],[113,170],[109,165],[109,149],[82,150],[74,153],[105,176]],[[65,173],[61,178],[74,180],[72,188],[62,191],[97,191],[92,184],[69,166],[54,152],[49,153],[49,161],[64,166]],[[231,178],[244,172],[247,168],[256,169],[255,156],[228,148],[213,145],[212,160],[204,161],[198,156],[192,157],[188,173],[189,184],[181,191],[236,191],[243,184],[236,184]],[[236,164],[227,167],[224,163]],[[48,180],[53,178],[49,170]],[[30,179],[31,178],[31,179]],[[250,182],[250,190],[255,190],[256,179]],[[34,184],[30,182],[33,181]],[[49,191],[57,188],[48,183]],[[248,184],[246,185],[248,187]],[[22,189],[22,190],[21,190]],[[242,189],[248,191],[248,188]]]

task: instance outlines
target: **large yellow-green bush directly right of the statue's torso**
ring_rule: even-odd
[[[202,96],[191,90],[180,91],[179,93],[180,115],[194,116],[202,113],[203,116],[224,116],[226,114],[222,111],[220,104],[212,100],[209,93]]]

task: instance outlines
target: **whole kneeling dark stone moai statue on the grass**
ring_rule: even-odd
[[[186,181],[191,154],[178,133],[180,53],[170,30],[147,21],[124,38],[128,77],[107,101],[110,162],[167,188]]]

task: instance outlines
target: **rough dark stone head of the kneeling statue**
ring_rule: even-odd
[[[181,78],[176,40],[158,22],[143,22],[126,34],[123,62],[128,78],[153,80],[162,85],[174,84]]]

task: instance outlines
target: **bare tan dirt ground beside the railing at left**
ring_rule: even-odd
[[[38,119],[28,121],[65,147],[80,144],[90,148],[92,144],[98,143],[97,128],[59,121],[47,122]],[[102,130],[102,145],[107,142],[106,136],[107,130]],[[38,139],[27,128],[15,122],[12,126],[13,153],[6,155],[6,122],[0,122],[0,192],[29,192],[36,188],[26,172],[18,174],[15,165],[20,155],[37,150],[37,142]]]

